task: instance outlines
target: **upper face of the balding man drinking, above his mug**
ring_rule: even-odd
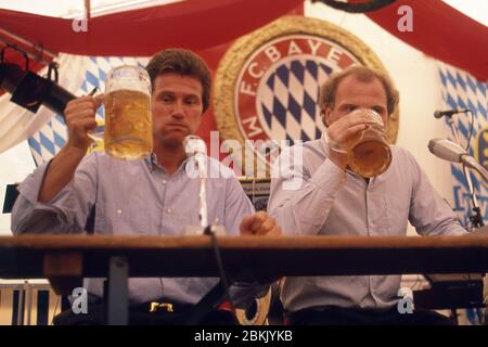
[[[354,75],[345,77],[337,86],[334,108],[325,106],[325,125],[329,127],[356,108],[371,108],[377,112],[385,128],[388,126],[386,92],[377,78],[365,82]]]

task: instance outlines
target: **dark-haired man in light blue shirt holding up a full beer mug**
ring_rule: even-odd
[[[68,103],[65,118],[69,139],[49,163],[39,166],[18,188],[12,214],[15,234],[84,233],[178,235],[198,226],[200,180],[185,172],[189,163],[183,139],[196,132],[207,110],[210,72],[194,53],[168,49],[149,63],[152,80],[151,110],[153,153],[143,160],[117,160],[105,153],[86,156],[88,132],[97,126],[95,111],[103,95],[81,97]],[[208,170],[222,172],[208,178],[208,222],[223,226],[229,234],[280,234],[265,213],[255,214],[229,168],[206,157]],[[211,176],[213,177],[213,176]],[[89,217],[94,220],[89,227]],[[167,266],[167,265],[162,265]],[[88,314],[62,313],[56,323],[103,323],[102,280],[87,279]],[[133,324],[182,323],[216,284],[215,278],[129,279],[129,321]],[[231,287],[235,305],[244,305],[262,292],[259,284]],[[246,294],[246,297],[237,294]],[[150,313],[152,301],[172,307]],[[168,313],[168,314],[166,314]],[[234,322],[227,311],[209,314],[203,323]]]

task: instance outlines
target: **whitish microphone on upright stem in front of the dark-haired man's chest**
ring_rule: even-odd
[[[194,134],[184,137],[183,147],[187,156],[194,159],[200,177],[200,224],[203,230],[208,227],[208,208],[207,208],[207,191],[206,191],[206,154],[207,145],[205,141]],[[187,171],[188,175],[190,172]],[[193,178],[193,177],[192,177]]]

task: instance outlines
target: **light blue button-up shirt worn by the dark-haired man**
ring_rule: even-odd
[[[12,232],[84,233],[89,229],[87,220],[94,207],[95,234],[182,234],[185,227],[200,226],[200,179],[187,175],[190,164],[185,160],[174,175],[168,175],[154,154],[125,162],[93,153],[82,159],[74,179],[49,204],[42,204],[38,195],[49,165],[44,163],[18,187]],[[207,169],[208,222],[237,235],[243,217],[254,213],[253,204],[229,168],[207,157]],[[102,295],[102,280],[87,282],[89,293]],[[129,280],[129,300],[140,304],[164,297],[195,304],[216,283],[215,278],[134,278]],[[261,291],[262,287],[256,288]]]

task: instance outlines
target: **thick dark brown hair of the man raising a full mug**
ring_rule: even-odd
[[[198,55],[184,49],[167,49],[154,54],[145,69],[151,77],[152,85],[154,85],[157,76],[166,73],[175,73],[198,79],[202,83],[203,112],[207,111],[210,103],[210,69]]]

